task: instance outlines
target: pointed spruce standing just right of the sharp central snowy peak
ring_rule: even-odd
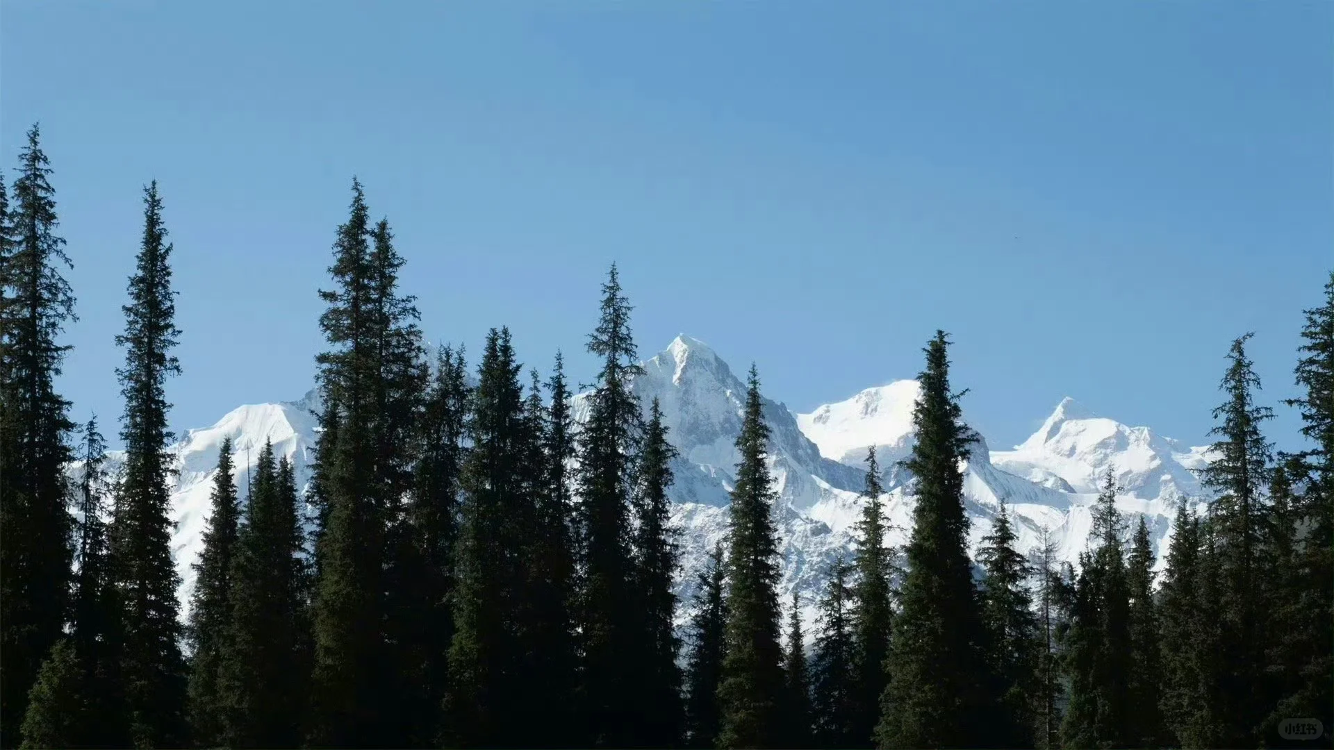
[[[727,559],[727,655],[718,687],[720,747],[775,747],[783,743],[783,649],[778,634],[778,531],[772,478],[766,454],[768,424],[751,366],[736,438],[740,460],[732,487],[731,548]]]

